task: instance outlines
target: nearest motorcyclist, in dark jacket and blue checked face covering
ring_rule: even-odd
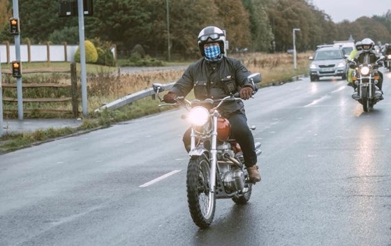
[[[163,100],[168,103],[175,102],[177,96],[186,96],[192,89],[196,99],[221,99],[239,91],[240,98],[251,98],[253,91],[258,87],[249,82],[247,76],[251,73],[237,59],[224,56],[226,36],[216,26],[207,26],[198,35],[198,47],[202,59],[192,63],[184,71],[181,78],[164,95]],[[254,88],[256,87],[256,88]],[[232,137],[242,147],[244,162],[252,182],[260,181],[257,155],[254,139],[244,111],[242,100],[226,102],[219,108],[221,115],[228,119],[231,125]],[[190,151],[191,129],[184,133],[183,141],[186,151]]]

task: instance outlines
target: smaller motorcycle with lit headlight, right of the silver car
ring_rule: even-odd
[[[351,61],[350,68],[355,69],[352,75],[353,83],[357,85],[357,92],[353,93],[352,98],[362,104],[364,112],[369,112],[376,102],[383,100],[383,93],[376,86],[380,79],[378,67],[383,60],[384,56],[381,56],[375,63],[358,66],[355,61]]]

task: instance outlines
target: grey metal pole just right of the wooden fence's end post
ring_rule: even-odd
[[[88,116],[87,103],[87,72],[85,61],[85,47],[84,47],[84,8],[83,0],[78,0],[78,14],[79,14],[79,43],[80,43],[80,70],[82,80],[82,110],[83,116]]]

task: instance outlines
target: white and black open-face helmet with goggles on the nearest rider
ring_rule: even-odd
[[[198,47],[202,56],[205,56],[204,45],[208,43],[219,43],[221,54],[224,54],[226,35],[219,27],[207,26],[198,34]]]

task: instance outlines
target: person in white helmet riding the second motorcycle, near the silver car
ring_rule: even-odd
[[[366,64],[372,64],[375,63],[378,59],[380,59],[380,56],[374,52],[374,41],[371,40],[371,38],[364,38],[361,40],[361,45],[362,45],[362,50],[360,52],[357,52],[355,55],[353,61],[357,63],[357,65],[366,63]],[[376,92],[380,93],[378,95],[379,98],[383,99],[383,91],[382,91],[382,86],[383,86],[383,73],[378,70],[378,74],[380,75],[380,79],[378,79],[378,84],[376,84]],[[353,83],[353,86],[355,86],[355,94],[357,94],[357,86]],[[376,95],[378,94],[376,93]],[[354,97],[353,97],[354,98]]]

